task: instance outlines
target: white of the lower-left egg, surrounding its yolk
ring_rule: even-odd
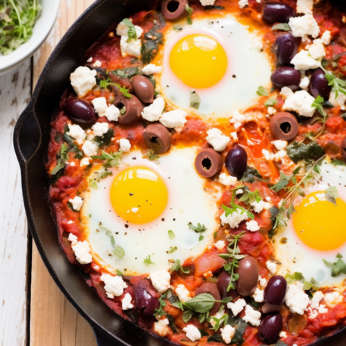
[[[143,158],[139,150],[123,154],[122,161],[130,166],[145,166],[158,172],[167,186],[169,198],[162,215],[147,224],[127,223],[116,215],[110,199],[110,188],[116,175],[129,166],[122,165],[119,170],[112,169],[113,176],[108,176],[98,183],[98,190],[89,189],[84,194],[82,217],[89,230],[87,240],[91,254],[100,266],[111,273],[116,269],[127,275],[151,273],[159,269],[168,269],[168,260],[179,259],[183,262],[188,257],[197,256],[212,242],[212,235],[219,223],[215,219],[220,193],[207,193],[203,188],[203,179],[194,168],[195,148],[174,148],[159,158],[159,164]],[[101,169],[102,171],[102,169]],[[93,172],[91,172],[92,176]],[[91,218],[89,218],[91,215]],[[164,219],[164,221],[162,221]],[[175,219],[175,221],[174,221]],[[100,222],[102,227],[100,228]],[[199,242],[199,233],[188,228],[188,223],[204,224],[208,230],[203,233],[204,239]],[[128,225],[128,228],[125,228]],[[123,248],[122,259],[112,253],[111,230],[116,245]],[[175,234],[174,239],[168,236],[168,230]],[[167,253],[171,247],[178,248],[174,253]],[[146,266],[143,260],[151,255],[154,265]]]

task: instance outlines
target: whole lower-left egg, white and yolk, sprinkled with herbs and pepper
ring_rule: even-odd
[[[125,164],[118,170],[108,169],[113,175],[83,195],[82,222],[100,266],[110,273],[118,269],[138,275],[169,269],[169,260],[183,263],[203,253],[219,227],[215,215],[221,192],[205,190],[194,169],[196,154],[194,147],[175,147],[156,163],[135,149],[122,155]],[[103,167],[91,172],[90,179],[100,172]],[[189,223],[207,230],[196,233]],[[113,253],[116,246],[124,251],[122,258]],[[154,264],[143,263],[148,255]]]

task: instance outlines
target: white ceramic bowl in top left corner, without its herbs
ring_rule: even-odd
[[[59,12],[60,0],[40,0],[40,2],[42,11],[36,21],[33,35],[28,42],[19,46],[10,55],[0,55],[0,75],[15,69],[32,57],[51,33]]]

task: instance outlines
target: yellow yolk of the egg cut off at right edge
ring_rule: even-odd
[[[346,203],[342,199],[336,199],[335,206],[325,199],[325,192],[312,192],[295,210],[295,233],[310,248],[329,251],[346,242]]]

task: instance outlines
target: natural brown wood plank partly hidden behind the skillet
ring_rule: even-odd
[[[92,0],[61,0],[60,2],[60,13],[51,35],[34,57],[34,84],[62,35],[93,3]],[[30,346],[95,346],[96,341],[91,327],[57,288],[35,244],[32,263]]]

